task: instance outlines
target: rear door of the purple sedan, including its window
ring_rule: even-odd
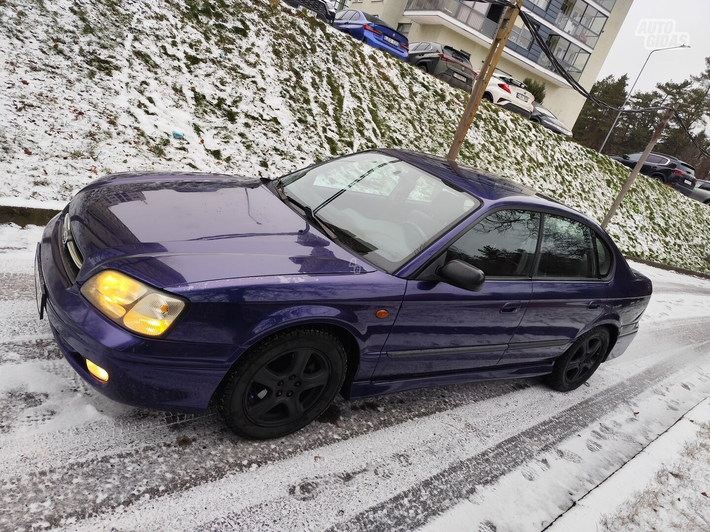
[[[599,266],[603,241],[597,245],[594,231],[581,221],[543,216],[532,297],[501,365],[562,354],[606,306],[607,283],[602,277],[608,277],[608,265],[606,272]]]

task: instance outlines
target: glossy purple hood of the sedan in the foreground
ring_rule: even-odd
[[[67,217],[84,259],[78,282],[105,268],[157,287],[373,270],[245,177],[111,174],[82,189]]]

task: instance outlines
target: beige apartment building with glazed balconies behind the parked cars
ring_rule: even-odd
[[[633,0],[524,0],[547,46],[572,77],[586,89],[596,81],[601,65]],[[410,43],[430,40],[471,54],[480,67],[503,16],[502,6],[466,0],[351,0],[352,9],[378,15]],[[518,79],[545,82],[545,106],[572,127],[584,105],[555,72],[522,21],[515,22],[498,68]]]

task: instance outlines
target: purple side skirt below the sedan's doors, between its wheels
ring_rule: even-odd
[[[524,377],[537,377],[552,373],[555,360],[535,362],[529,365],[516,365],[508,367],[489,368],[469,372],[449,373],[446,375],[418,375],[390,380],[355,381],[350,384],[349,390],[344,395],[346,399],[365,399],[383,394],[404,392],[408,389],[443,386],[445,384],[461,384],[462,382],[475,382],[493,379],[520,379]]]

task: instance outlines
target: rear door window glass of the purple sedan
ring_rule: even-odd
[[[593,278],[594,262],[589,227],[563,216],[545,214],[535,277]]]

